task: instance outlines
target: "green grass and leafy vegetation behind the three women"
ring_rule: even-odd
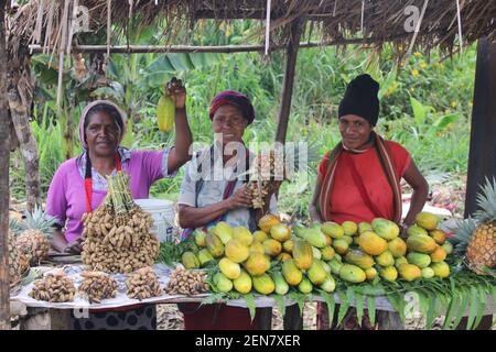
[[[230,29],[231,33],[205,30],[205,37],[193,38],[195,44],[237,44],[249,32],[246,25]],[[152,42],[153,33],[143,31],[141,42]],[[209,38],[208,38],[209,37]],[[475,45],[444,58],[439,52],[430,56],[414,53],[398,69],[392,50],[378,54],[351,46],[345,53],[334,47],[302,50],[299,53],[295,87],[291,109],[288,141],[309,141],[320,155],[338,141],[336,111],[345,86],[353,77],[367,72],[381,85],[381,113],[378,131],[386,139],[405,145],[425,174],[466,174],[475,72]],[[54,107],[56,91],[56,58],[48,67],[46,57],[36,55],[33,73],[37,79],[32,129],[39,143],[43,193],[65,155],[77,155],[78,114],[89,98],[89,90],[77,85],[74,72],[64,77],[64,109],[57,114]],[[157,102],[163,85],[171,77],[183,79],[187,89],[187,112],[195,141],[209,142],[213,133],[208,106],[223,89],[247,94],[257,109],[256,122],[245,134],[247,142],[272,141],[277,127],[279,97],[283,75],[283,54],[273,53],[268,59],[257,53],[244,54],[142,54],[112,55],[107,66],[109,88],[100,95],[118,102],[132,121],[133,133],[126,145],[136,148],[160,148],[172,145],[174,135],[158,131],[154,119]],[[67,124],[67,121],[74,121]],[[64,139],[66,127],[74,129],[75,141]],[[71,143],[72,145],[66,145]],[[280,193],[280,207],[296,217],[308,216],[317,161],[311,165],[309,177],[299,175],[285,183]],[[23,165],[19,152],[12,158],[11,189],[13,197],[24,197]],[[174,199],[182,173],[174,179],[157,183],[155,197]],[[296,200],[296,201],[295,201]]]

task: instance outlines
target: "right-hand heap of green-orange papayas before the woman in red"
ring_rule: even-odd
[[[395,222],[381,218],[359,224],[325,222],[320,229],[331,238],[336,254],[328,264],[342,279],[362,283],[379,276],[388,282],[411,282],[450,275],[444,260],[453,248],[438,224],[434,215],[420,212],[405,240]]]

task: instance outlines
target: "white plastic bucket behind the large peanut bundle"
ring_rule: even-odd
[[[150,229],[160,242],[170,242],[177,233],[174,226],[174,202],[166,199],[134,199],[134,202],[153,218],[153,227]]]

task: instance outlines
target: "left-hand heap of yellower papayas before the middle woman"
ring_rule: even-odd
[[[303,294],[315,287],[328,293],[335,289],[331,267],[314,256],[317,249],[295,237],[277,216],[265,216],[258,224],[260,230],[254,233],[226,222],[207,232],[195,231],[198,251],[184,253],[183,265],[196,268],[215,261],[218,272],[213,276],[213,289],[220,293],[285,295],[291,287]]]

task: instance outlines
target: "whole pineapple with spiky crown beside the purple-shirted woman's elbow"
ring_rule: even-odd
[[[18,235],[18,248],[28,256],[31,265],[39,265],[48,256],[50,239],[55,219],[46,219],[45,212],[36,207],[33,213],[26,212],[21,224],[22,232]]]

